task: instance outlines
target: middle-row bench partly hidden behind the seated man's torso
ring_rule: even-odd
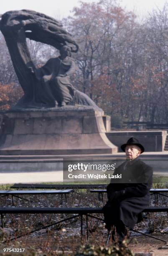
[[[101,200],[103,202],[103,193],[106,193],[107,190],[106,189],[90,189],[90,192],[98,193],[98,200],[100,201],[100,197],[101,197]],[[151,195],[155,195],[155,201],[157,202],[158,202],[158,195],[168,197],[167,195],[161,194],[161,193],[168,193],[168,189],[150,189],[150,193]]]

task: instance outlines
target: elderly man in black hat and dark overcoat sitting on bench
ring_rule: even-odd
[[[103,207],[104,222],[112,232],[112,240],[119,243],[127,235],[127,227],[142,220],[141,212],[148,206],[153,170],[140,160],[144,147],[136,138],[130,138],[121,146],[126,161],[115,169],[122,174],[122,180],[112,179],[107,186],[107,204]],[[115,236],[116,234],[116,236]]]

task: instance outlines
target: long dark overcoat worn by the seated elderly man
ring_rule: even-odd
[[[115,225],[118,220],[129,228],[137,223],[138,215],[150,200],[153,170],[139,158],[125,161],[115,169],[115,174],[122,174],[122,179],[111,179],[107,186],[107,216],[110,223]],[[119,195],[116,200],[111,200],[114,193]],[[105,217],[105,216],[104,216]]]

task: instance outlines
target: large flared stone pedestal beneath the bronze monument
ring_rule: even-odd
[[[103,111],[92,107],[10,110],[0,129],[0,155],[116,153],[105,135]]]

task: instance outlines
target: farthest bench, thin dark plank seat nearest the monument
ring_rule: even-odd
[[[27,189],[90,189],[90,188],[104,188],[107,184],[26,184],[26,183],[15,183],[10,188],[27,188]]]

